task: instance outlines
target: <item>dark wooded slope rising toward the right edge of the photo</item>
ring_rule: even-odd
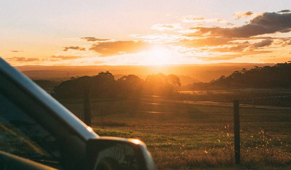
[[[222,75],[209,83],[193,83],[189,90],[217,90],[235,88],[286,88],[291,89],[291,61],[274,66],[257,67]]]

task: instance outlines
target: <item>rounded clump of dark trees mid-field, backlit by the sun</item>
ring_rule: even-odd
[[[117,96],[160,95],[169,96],[181,86],[176,75],[152,74],[142,80],[136,75],[114,79],[109,72],[100,72],[92,77],[71,77],[54,87],[52,94],[57,99],[82,98],[85,89],[91,90],[92,98],[114,98]]]

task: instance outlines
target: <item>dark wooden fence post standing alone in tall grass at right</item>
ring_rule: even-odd
[[[240,164],[240,137],[239,137],[239,100],[233,100],[234,113],[234,159]]]

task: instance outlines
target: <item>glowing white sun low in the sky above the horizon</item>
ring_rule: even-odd
[[[148,52],[148,57],[150,65],[164,65],[169,64],[171,53],[163,48],[155,48]]]

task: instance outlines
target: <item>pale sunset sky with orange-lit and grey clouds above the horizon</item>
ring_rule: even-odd
[[[0,56],[17,65],[280,63],[291,1],[0,1]]]

